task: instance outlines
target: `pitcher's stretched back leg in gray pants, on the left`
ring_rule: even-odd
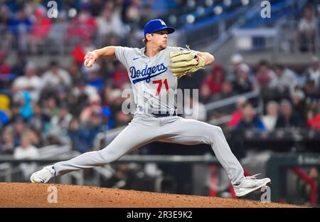
[[[109,164],[122,157],[127,152],[142,147],[152,142],[156,128],[131,122],[107,147],[99,151],[87,152],[68,161],[58,162],[53,165],[58,176],[70,171],[92,168]]]

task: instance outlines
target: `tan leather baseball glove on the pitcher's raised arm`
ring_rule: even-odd
[[[187,46],[188,48],[188,46]],[[201,56],[190,50],[176,51],[170,53],[171,72],[176,77],[191,75],[199,69],[205,68],[205,61]]]

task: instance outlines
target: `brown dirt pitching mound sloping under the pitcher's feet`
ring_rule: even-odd
[[[56,195],[54,195],[55,188]],[[48,203],[50,201],[57,203]],[[60,184],[0,183],[0,208],[3,207],[297,207],[279,203],[261,203],[240,199],[221,199],[208,196],[158,194],[94,186]]]

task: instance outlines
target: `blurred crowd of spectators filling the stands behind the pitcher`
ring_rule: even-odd
[[[23,158],[34,155],[36,147],[70,142],[80,152],[100,149],[94,145],[99,132],[127,125],[132,119],[121,110],[127,99],[122,90],[131,86],[127,70],[117,60],[100,60],[93,68],[85,68],[85,52],[107,45],[142,47],[134,30],[160,16],[164,6],[161,1],[65,1],[59,17],[51,19],[45,5],[23,2],[0,4],[0,154]],[[165,9],[179,4],[183,1]],[[299,30],[305,26],[302,21]],[[15,62],[8,63],[12,48],[18,53]],[[46,68],[39,68],[28,60],[28,56],[60,53],[72,58],[68,67],[51,60]],[[250,67],[235,54],[230,67],[215,63],[193,78],[181,79],[181,87],[189,81],[199,89],[199,120],[232,115],[225,125],[228,129],[320,130],[316,56],[309,66],[296,69],[265,60]],[[243,97],[236,107],[208,113],[204,108],[209,102],[252,90],[260,92],[262,113]]]

